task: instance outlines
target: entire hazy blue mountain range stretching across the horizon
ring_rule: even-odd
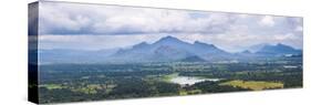
[[[229,53],[214,44],[196,41],[184,42],[174,36],[165,36],[154,43],[142,42],[129,49],[80,51],[80,50],[40,50],[42,63],[101,63],[101,62],[214,62],[246,60],[258,57],[278,57],[301,55],[301,50],[289,45],[262,45],[256,52],[246,50]]]

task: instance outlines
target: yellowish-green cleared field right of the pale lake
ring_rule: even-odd
[[[260,81],[229,81],[219,85],[230,85],[234,87],[250,88],[253,91],[261,91],[267,88],[283,88],[282,83],[278,82],[260,82]]]

